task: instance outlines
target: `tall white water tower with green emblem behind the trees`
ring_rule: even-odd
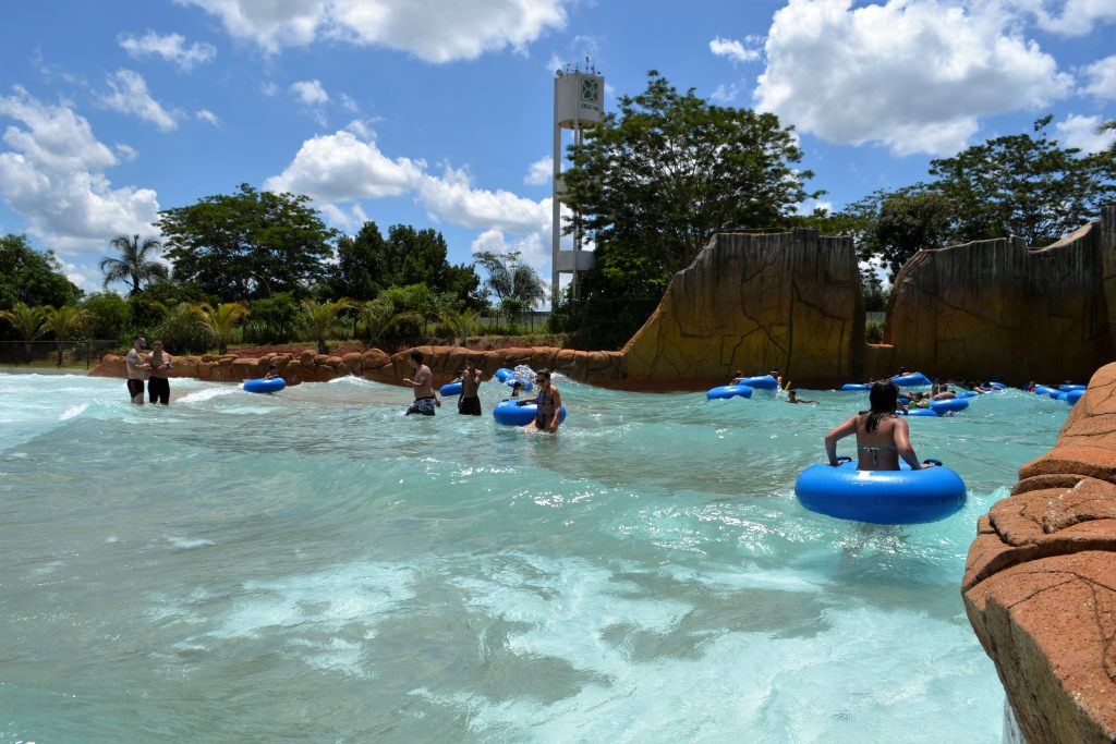
[[[558,303],[558,281],[561,274],[571,274],[573,294],[577,298],[577,272],[591,269],[594,263],[593,251],[583,250],[585,235],[581,233],[577,215],[574,214],[575,231],[573,234],[573,250],[561,250],[561,203],[565,199],[566,187],[561,178],[561,164],[565,146],[562,144],[564,131],[570,129],[574,135],[574,143],[581,143],[581,131],[586,126],[594,126],[600,123],[605,112],[605,78],[596,68],[585,62],[581,66],[567,65],[564,69],[555,73],[555,152],[554,152],[554,213],[551,215],[551,270],[550,270],[550,299],[552,305]]]

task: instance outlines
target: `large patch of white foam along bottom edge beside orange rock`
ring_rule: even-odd
[[[412,690],[470,718],[481,736],[536,741],[748,742],[999,741],[991,663],[966,627],[922,612],[824,611],[822,630],[780,637],[719,631],[700,656],[633,659],[606,642],[616,624],[662,632],[689,608],[632,599],[607,571],[576,560],[530,559],[543,576],[502,571],[462,587],[473,607],[527,624],[509,649],[526,661],[562,659],[605,683],[546,704],[529,696]],[[714,581],[715,582],[715,581]],[[994,688],[993,688],[994,689]],[[956,715],[959,712],[963,715]],[[731,732],[731,736],[730,733]]]

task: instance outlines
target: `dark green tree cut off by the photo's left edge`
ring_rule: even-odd
[[[78,289],[50,251],[31,248],[26,235],[0,236],[0,309],[17,302],[60,307],[77,302]]]

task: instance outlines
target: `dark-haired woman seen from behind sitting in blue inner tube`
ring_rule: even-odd
[[[862,410],[826,434],[826,454],[829,464],[836,467],[837,442],[856,435],[857,470],[897,471],[899,457],[911,470],[922,470],[923,465],[911,445],[907,423],[895,415],[898,406],[899,388],[891,380],[874,383],[868,393],[870,410]]]

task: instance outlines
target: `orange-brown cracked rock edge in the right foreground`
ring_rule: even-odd
[[[1116,364],[977,524],[962,593],[1031,744],[1116,741]]]

